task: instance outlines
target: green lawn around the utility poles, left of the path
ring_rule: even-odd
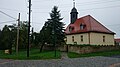
[[[61,57],[60,51],[43,51],[39,52],[39,49],[31,49],[30,57],[27,58],[26,50],[20,50],[18,55],[16,55],[15,51],[13,51],[12,55],[5,54],[3,50],[0,50],[0,59],[18,59],[18,60],[39,60],[39,59],[58,59]]]

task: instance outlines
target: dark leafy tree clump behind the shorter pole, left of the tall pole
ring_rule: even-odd
[[[21,21],[21,27],[19,31],[19,49],[26,49],[27,45],[27,21]],[[12,47],[16,47],[17,40],[17,26],[13,25],[5,25],[3,30],[0,30],[0,49],[5,50],[9,49],[10,54],[12,51]]]

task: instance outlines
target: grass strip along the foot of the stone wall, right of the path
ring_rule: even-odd
[[[78,53],[74,53],[74,52],[68,52],[69,58],[92,57],[92,56],[112,56],[112,55],[120,55],[120,50],[94,52],[94,53],[86,53],[86,54],[78,54]]]

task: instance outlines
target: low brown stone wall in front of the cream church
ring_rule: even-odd
[[[100,52],[100,51],[111,51],[120,50],[120,46],[80,46],[80,45],[64,45],[59,48],[60,51],[75,52],[79,54]]]

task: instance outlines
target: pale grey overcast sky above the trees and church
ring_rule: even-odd
[[[75,0],[78,18],[91,15],[108,29],[115,32],[115,37],[120,37],[120,0]],[[66,26],[70,23],[70,11],[73,0],[32,0],[31,25],[34,31],[39,32],[45,21],[49,18],[53,6],[58,6],[62,20]],[[0,29],[4,25],[17,23],[15,19],[2,12],[18,18],[28,20],[28,0],[0,0]],[[11,22],[7,22],[11,21]]]

